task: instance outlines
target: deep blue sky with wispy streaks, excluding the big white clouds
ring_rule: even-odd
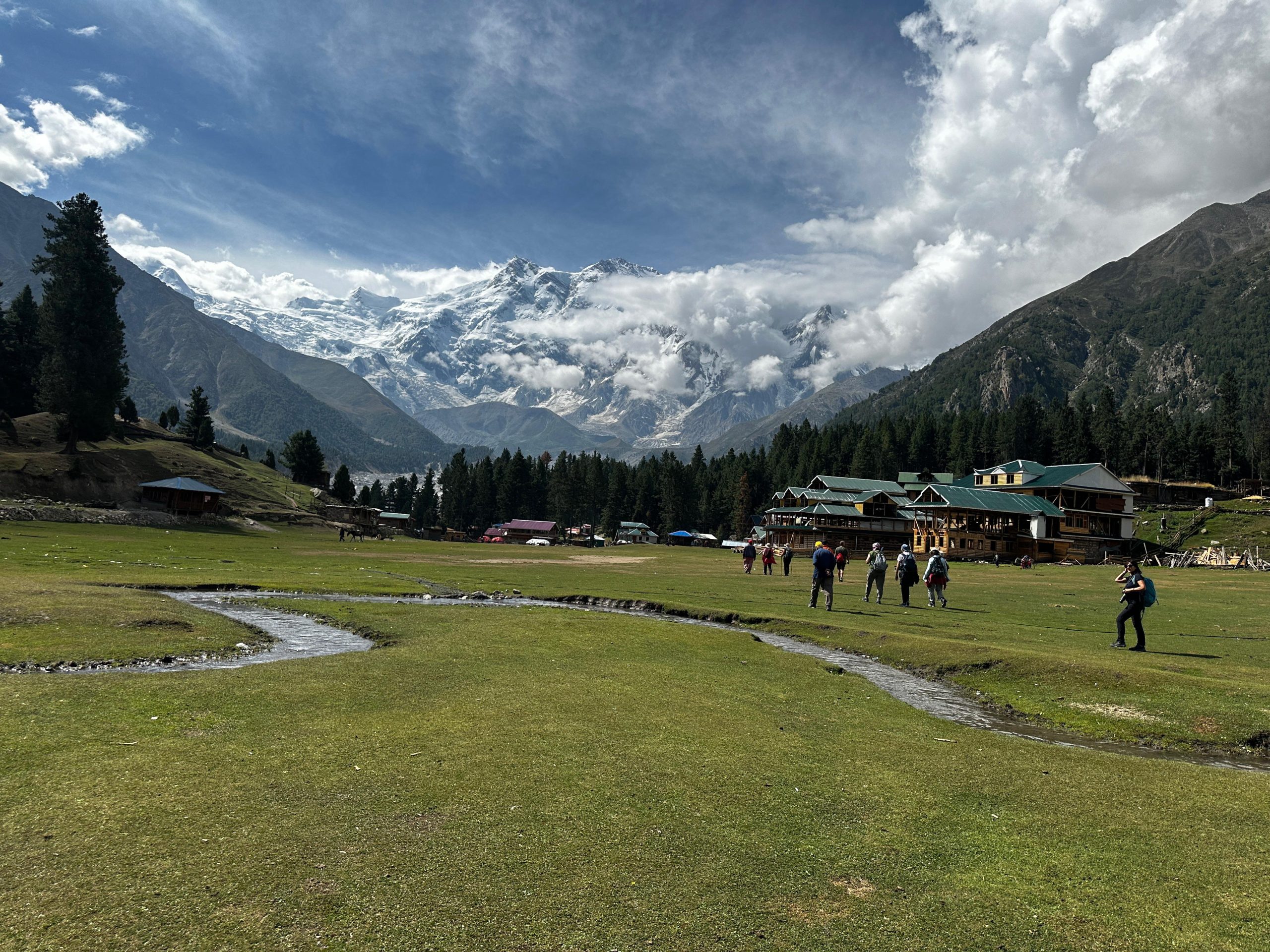
[[[791,221],[902,184],[913,9],[64,3],[0,27],[0,102],[127,103],[144,147],[36,190],[86,190],[197,256],[320,283],[331,250],[704,268],[790,253]]]

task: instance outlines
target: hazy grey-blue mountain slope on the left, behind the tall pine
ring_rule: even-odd
[[[50,202],[0,185],[0,296],[23,284],[41,292],[30,260],[43,251]],[[333,463],[389,471],[422,470],[451,447],[404,414],[364,380],[329,360],[287,354],[255,335],[198,311],[194,302],[119,255],[112,255],[123,291],[130,392],[151,418],[207,392],[217,438],[257,453],[281,448],[296,429],[311,429]]]

